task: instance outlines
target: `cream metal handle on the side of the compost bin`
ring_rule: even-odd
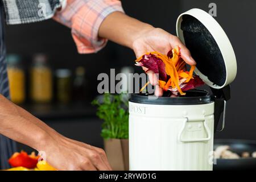
[[[206,130],[206,132],[207,132],[207,137],[206,137],[206,138],[182,139],[181,135],[182,135],[182,133],[183,133],[183,131],[184,131],[184,129],[185,129],[185,126],[186,126],[186,123],[187,123],[187,122],[188,122],[188,118],[185,118],[185,119],[184,119],[184,123],[183,123],[183,127],[182,127],[182,129],[180,130],[179,135],[178,135],[178,140],[179,140],[180,142],[203,142],[203,141],[208,141],[208,140],[210,140],[210,137],[211,137],[211,135],[210,135],[210,129],[209,129],[209,127],[207,126],[207,122],[205,122],[205,120],[203,121],[203,123],[204,123],[205,130]]]

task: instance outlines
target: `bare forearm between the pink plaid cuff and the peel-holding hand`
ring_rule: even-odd
[[[134,40],[152,30],[152,26],[121,12],[110,14],[102,22],[98,35],[129,48],[133,48]]]

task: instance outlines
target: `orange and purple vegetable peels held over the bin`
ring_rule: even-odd
[[[159,87],[176,95],[185,95],[184,91],[204,84],[199,76],[193,75],[195,65],[187,71],[185,61],[181,59],[180,47],[175,47],[167,55],[156,51],[148,52],[139,57],[135,65],[159,74]],[[141,92],[147,85],[148,82],[142,87]]]

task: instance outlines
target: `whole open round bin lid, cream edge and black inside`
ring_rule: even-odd
[[[177,18],[177,36],[196,60],[196,75],[214,89],[229,85],[237,74],[236,56],[220,24],[207,12],[191,9]]]

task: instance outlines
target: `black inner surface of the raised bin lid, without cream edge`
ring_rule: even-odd
[[[213,84],[224,85],[226,81],[225,62],[212,34],[191,15],[183,15],[181,30],[183,30],[185,45],[196,60],[197,69]]]

